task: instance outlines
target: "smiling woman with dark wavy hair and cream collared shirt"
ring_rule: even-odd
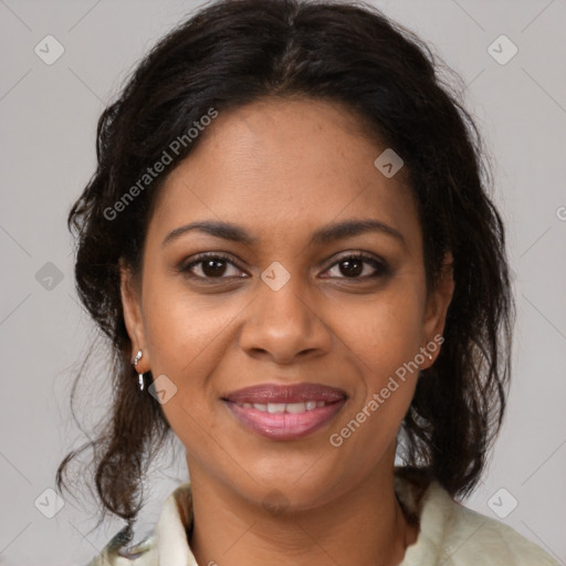
[[[91,565],[556,564],[455,501],[502,422],[513,302],[436,67],[369,6],[221,1],[104,112],[70,226],[115,361],[87,447],[128,524]],[[190,482],[128,547],[171,434]]]

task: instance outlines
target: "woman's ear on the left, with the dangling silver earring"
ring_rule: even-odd
[[[150,369],[149,353],[147,352],[146,336],[144,331],[144,318],[142,315],[142,289],[129,266],[124,262],[119,265],[122,308],[124,312],[124,323],[132,342],[133,359],[137,350],[143,355],[139,359],[136,370],[146,373]]]

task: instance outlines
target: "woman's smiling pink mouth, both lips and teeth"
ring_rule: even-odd
[[[263,384],[228,394],[222,400],[245,429],[271,440],[295,440],[328,423],[347,396],[317,384]]]

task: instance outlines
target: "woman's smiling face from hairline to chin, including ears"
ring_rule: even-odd
[[[392,470],[415,367],[439,352],[451,277],[427,296],[405,171],[376,167],[386,147],[342,106],[255,102],[200,135],[157,199],[140,285],[124,273],[138,370],[151,369],[193,481],[258,504],[276,489],[295,509],[321,505]],[[179,230],[205,221],[249,241]],[[332,231],[360,221],[377,228]],[[190,265],[205,252],[228,260]],[[296,384],[319,387],[277,397]],[[255,397],[233,395],[260,385]]]

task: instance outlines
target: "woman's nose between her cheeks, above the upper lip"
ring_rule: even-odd
[[[290,365],[329,352],[332,333],[324,323],[322,305],[294,279],[277,291],[260,283],[240,334],[248,355]]]

